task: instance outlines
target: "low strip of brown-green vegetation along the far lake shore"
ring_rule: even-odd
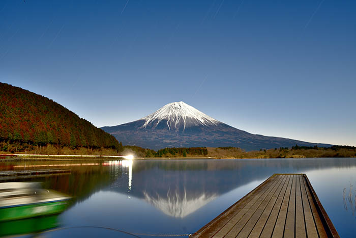
[[[139,158],[305,158],[305,157],[356,157],[356,147],[332,146],[332,147],[307,147],[295,145],[291,148],[280,147],[274,149],[261,149],[245,151],[238,147],[180,147],[164,148],[160,150],[144,149],[139,146],[123,146],[118,148],[91,148],[68,147],[60,145],[35,145],[29,143],[0,142],[0,153],[17,154],[67,154],[67,155],[127,155],[134,154]]]

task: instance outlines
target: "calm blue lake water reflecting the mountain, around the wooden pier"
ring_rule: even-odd
[[[0,169],[45,165],[72,172],[32,181],[74,197],[57,217],[57,228],[72,228],[45,237],[194,233],[274,173],[306,173],[340,236],[356,235],[356,158],[0,162]]]

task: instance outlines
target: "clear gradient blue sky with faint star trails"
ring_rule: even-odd
[[[356,146],[356,1],[0,1],[0,81],[100,127],[184,101]]]

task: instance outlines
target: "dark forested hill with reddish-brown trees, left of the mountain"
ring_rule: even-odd
[[[0,141],[119,148],[118,141],[62,105],[0,83]]]

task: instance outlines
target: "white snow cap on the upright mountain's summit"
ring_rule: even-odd
[[[149,125],[157,127],[161,122],[164,122],[167,124],[169,130],[178,130],[179,128],[185,130],[186,127],[190,126],[217,125],[220,123],[183,101],[168,103],[140,120],[145,120],[141,128],[146,128]]]

